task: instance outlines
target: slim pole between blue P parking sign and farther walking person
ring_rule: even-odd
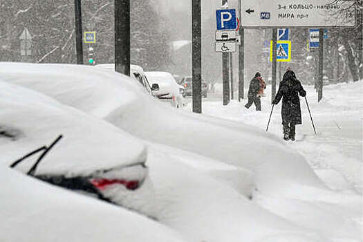
[[[241,0],[239,0],[239,20],[241,21]],[[244,98],[245,93],[245,29],[239,27],[241,45],[239,46],[239,102]]]

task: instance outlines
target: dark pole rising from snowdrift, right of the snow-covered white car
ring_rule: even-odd
[[[202,113],[201,0],[192,0],[193,112]]]

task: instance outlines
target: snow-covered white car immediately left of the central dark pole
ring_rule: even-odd
[[[164,71],[147,71],[145,75],[150,83],[158,84],[159,90],[155,94],[160,100],[169,101],[178,108],[185,106],[184,86],[176,83],[173,75]]]

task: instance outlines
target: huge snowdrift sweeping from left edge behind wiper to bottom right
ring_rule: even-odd
[[[136,210],[156,216],[192,241],[362,237],[362,196],[354,190],[329,189],[304,153],[261,127],[172,109],[133,80],[91,67],[9,63],[0,67],[0,79],[50,95],[147,140],[155,197],[143,194],[141,187],[133,195],[145,199],[131,199],[138,201]],[[205,103],[205,113],[208,107],[209,114],[214,111],[223,118],[236,117],[226,111],[237,117],[241,113],[238,103],[227,107]],[[254,116],[258,115],[241,115],[257,120]]]

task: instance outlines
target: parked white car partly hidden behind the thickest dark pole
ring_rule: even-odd
[[[96,65],[97,68],[104,68],[108,70],[115,70],[115,64],[99,64]],[[148,93],[151,95],[154,95],[154,91],[159,90],[158,84],[151,85],[149,81],[147,80],[147,77],[145,77],[144,70],[141,66],[137,65],[130,65],[130,77],[132,77],[133,80],[136,80],[136,82],[140,83]]]

